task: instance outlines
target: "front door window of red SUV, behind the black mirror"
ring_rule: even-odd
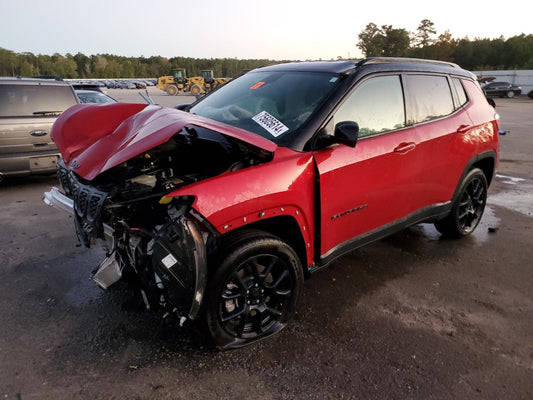
[[[359,137],[405,126],[402,85],[398,75],[370,78],[353,91],[333,116],[334,124],[355,121]]]

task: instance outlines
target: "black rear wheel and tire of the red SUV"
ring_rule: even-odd
[[[450,214],[435,222],[435,228],[444,236],[460,238],[476,229],[487,203],[487,178],[479,168],[472,169],[463,180],[459,196]]]

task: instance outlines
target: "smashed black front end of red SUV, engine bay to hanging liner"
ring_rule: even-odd
[[[192,209],[193,196],[171,193],[271,158],[239,139],[186,125],[92,180],[77,174],[74,157],[69,164],[60,159],[58,176],[72,201],[78,238],[86,247],[99,243],[106,252],[93,279],[106,289],[126,280],[146,308],[174,312],[182,323],[195,319],[217,232]]]

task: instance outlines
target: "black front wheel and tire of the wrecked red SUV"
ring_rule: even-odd
[[[303,271],[279,238],[245,232],[208,282],[206,320],[218,348],[242,347],[279,332],[292,318]]]

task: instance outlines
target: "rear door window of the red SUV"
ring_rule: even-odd
[[[406,75],[408,124],[431,121],[454,112],[448,78],[436,75]]]

